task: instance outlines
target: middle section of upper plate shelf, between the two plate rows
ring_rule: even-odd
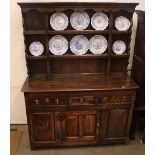
[[[48,34],[108,34],[109,30],[64,30],[48,31]]]

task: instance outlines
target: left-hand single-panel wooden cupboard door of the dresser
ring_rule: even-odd
[[[31,132],[33,142],[54,141],[53,113],[32,113]]]

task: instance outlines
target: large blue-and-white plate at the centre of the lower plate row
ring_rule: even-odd
[[[70,41],[70,49],[76,55],[85,54],[89,49],[89,40],[83,35],[74,36]]]

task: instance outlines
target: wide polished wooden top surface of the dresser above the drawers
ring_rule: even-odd
[[[67,92],[137,88],[137,84],[130,77],[121,74],[108,77],[103,74],[66,74],[27,78],[22,87],[22,92]]]

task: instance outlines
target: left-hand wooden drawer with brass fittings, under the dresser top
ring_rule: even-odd
[[[33,105],[64,105],[66,104],[65,98],[57,97],[36,97],[30,99]]]

